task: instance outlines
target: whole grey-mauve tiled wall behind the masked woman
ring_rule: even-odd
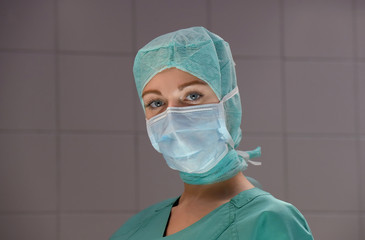
[[[202,25],[231,44],[241,149],[316,239],[365,239],[365,1],[0,1],[0,239],[107,239],[182,183],[150,146],[136,50]]]

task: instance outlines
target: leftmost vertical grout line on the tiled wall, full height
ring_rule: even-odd
[[[58,41],[58,1],[54,1],[54,59],[55,59],[55,140],[56,140],[56,188],[57,188],[57,215],[56,215],[56,238],[61,238],[61,146],[60,146],[60,72],[59,72],[59,41]]]

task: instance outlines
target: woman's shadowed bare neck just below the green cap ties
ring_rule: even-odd
[[[226,181],[213,184],[191,185],[184,183],[184,192],[180,197],[179,205],[200,201],[228,202],[238,193],[253,187],[242,172]]]

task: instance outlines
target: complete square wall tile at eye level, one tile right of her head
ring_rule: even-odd
[[[353,66],[345,63],[286,64],[287,130],[354,132]]]

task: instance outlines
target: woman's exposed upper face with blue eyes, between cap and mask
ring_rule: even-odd
[[[168,107],[219,102],[206,82],[177,68],[156,74],[143,89],[142,99],[147,119],[164,112]]]

